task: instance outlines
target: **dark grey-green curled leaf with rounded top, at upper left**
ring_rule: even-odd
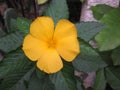
[[[5,26],[7,28],[7,32],[10,33],[13,30],[11,24],[13,25],[14,23],[11,23],[12,19],[16,19],[18,16],[17,11],[13,8],[9,8],[5,11],[4,19],[5,19]]]

